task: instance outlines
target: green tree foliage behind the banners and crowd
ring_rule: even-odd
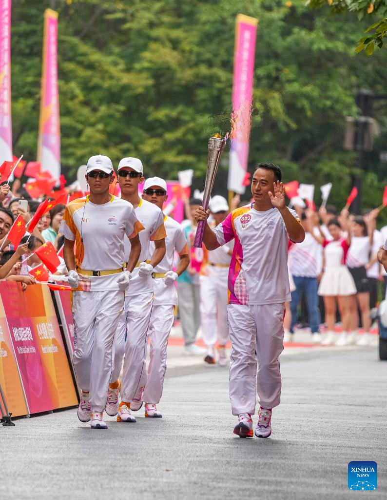
[[[57,0],[12,2],[14,152],[36,154],[43,11],[59,12],[62,170],[71,180],[92,154],[143,160],[146,175],[195,170],[203,188],[208,136],[231,110],[235,16],[259,18],[249,169],[277,161],[284,180],[333,182],[343,205],[355,154],[344,151],[345,117],[357,88],[383,93],[387,68],[351,49],[356,17],[327,22],[304,1]],[[368,23],[360,21],[364,29]],[[366,159],[365,205],[378,205],[387,175],[381,135]],[[216,189],[225,194],[227,153]],[[316,202],[320,198],[316,195]]]

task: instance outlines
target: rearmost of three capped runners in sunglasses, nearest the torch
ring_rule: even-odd
[[[160,209],[167,201],[167,183],[160,177],[150,177],[144,184],[143,199],[153,203]],[[174,307],[177,305],[176,279],[189,264],[189,249],[183,228],[171,217],[164,215],[166,230],[165,256],[154,267],[153,286],[154,299],[150,316],[148,337],[150,338],[150,362],[146,383],[142,391],[141,401],[145,402],[146,417],[161,417],[156,404],[160,401],[167,361],[168,337],[173,325]],[[154,243],[150,243],[150,255],[153,254]],[[180,260],[176,270],[172,270],[175,251]],[[145,371],[146,373],[146,371]],[[138,407],[138,406],[137,406]],[[137,409],[137,407],[132,409]],[[139,408],[138,408],[139,409]]]

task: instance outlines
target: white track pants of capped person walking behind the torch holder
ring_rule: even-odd
[[[202,338],[207,347],[218,341],[226,345],[229,339],[227,328],[227,280],[228,267],[206,265],[207,275],[200,275],[200,315]]]

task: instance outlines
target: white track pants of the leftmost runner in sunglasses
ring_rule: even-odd
[[[72,363],[79,387],[90,393],[91,411],[106,406],[114,333],[123,308],[123,291],[73,292],[76,345]]]

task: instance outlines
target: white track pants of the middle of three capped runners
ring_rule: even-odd
[[[130,402],[141,381],[145,383],[144,361],[150,314],[153,305],[153,292],[131,295],[125,299],[125,311],[117,327],[114,343],[114,370],[111,381],[118,379],[123,355],[121,399]],[[126,342],[125,342],[126,333]]]

